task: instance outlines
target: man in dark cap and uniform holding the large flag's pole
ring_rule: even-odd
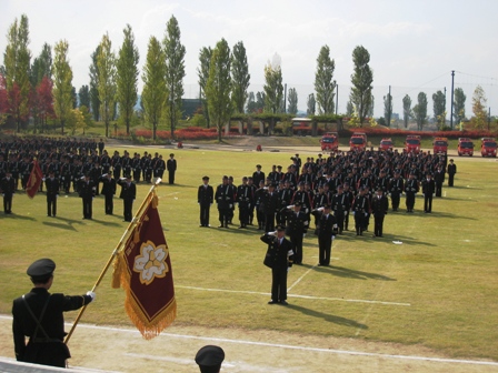
[[[63,312],[78,310],[96,298],[86,295],[50,294],[56,263],[50,259],[37,260],[28,268],[34,288],[13,301],[12,333],[16,359],[20,362],[66,367],[71,357],[63,343]],[[26,336],[29,337],[26,344]]]

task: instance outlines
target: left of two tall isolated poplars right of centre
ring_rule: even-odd
[[[315,91],[317,92],[317,103],[319,114],[333,114],[336,95],[336,81],[333,70],[336,62],[330,59],[330,49],[323,46],[317,58],[317,72],[315,73]]]

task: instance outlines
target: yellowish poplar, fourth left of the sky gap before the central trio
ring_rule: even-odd
[[[116,57],[111,50],[112,43],[106,33],[100,42],[100,51],[97,56],[98,91],[100,99],[100,118],[106,124],[106,138],[109,137],[109,123],[114,111],[116,100]]]

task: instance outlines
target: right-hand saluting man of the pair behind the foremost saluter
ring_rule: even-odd
[[[332,243],[338,232],[337,219],[331,213],[330,204],[311,213],[318,218],[318,265],[330,265]]]

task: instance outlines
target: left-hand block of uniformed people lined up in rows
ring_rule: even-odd
[[[57,200],[60,193],[78,193],[82,201],[82,218],[92,219],[94,196],[104,196],[104,213],[113,214],[113,196],[117,185],[123,201],[123,218],[132,219],[132,203],[139,182],[151,183],[152,178],[162,179],[168,171],[169,183],[175,183],[177,161],[170,154],[167,162],[159,153],[145,152],[121,155],[108,154],[102,140],[78,141],[68,139],[33,139],[0,142],[0,191],[3,211],[12,213],[12,195],[27,189],[34,168],[39,168],[39,191],[47,194],[47,215],[57,216]]]

